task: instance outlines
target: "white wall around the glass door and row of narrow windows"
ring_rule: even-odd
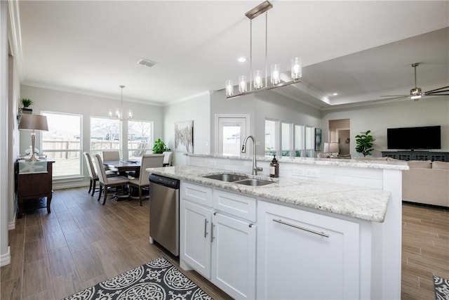
[[[215,91],[210,102],[211,141],[215,138],[215,114],[250,115],[250,134],[260,141],[260,145],[264,145],[265,118],[321,128],[321,112],[318,109],[273,91],[263,91],[231,100],[227,100],[224,90]],[[213,153],[217,152],[211,149]],[[263,146],[257,147],[257,155],[265,155]]]

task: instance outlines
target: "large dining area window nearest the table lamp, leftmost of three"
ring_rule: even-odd
[[[53,177],[81,176],[81,115],[43,112],[48,131],[42,131],[42,151],[54,159]]]

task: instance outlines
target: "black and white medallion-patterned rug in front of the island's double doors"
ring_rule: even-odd
[[[213,300],[169,261],[160,257],[63,300]]]

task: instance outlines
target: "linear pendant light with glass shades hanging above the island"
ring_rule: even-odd
[[[301,58],[293,58],[291,61],[291,81],[281,81],[281,66],[274,64],[271,66],[271,79],[268,85],[268,64],[267,64],[267,32],[268,32],[268,11],[273,8],[273,4],[269,1],[264,1],[255,8],[248,11],[245,15],[250,19],[250,81],[248,89],[248,81],[245,75],[239,76],[237,83],[239,93],[234,93],[234,83],[232,80],[226,81],[226,98],[232,99],[239,96],[248,95],[250,93],[257,93],[259,91],[267,91],[281,86],[288,86],[301,82],[302,78],[302,64]],[[253,19],[258,15],[265,13],[265,72],[262,70],[255,70],[253,72]],[[264,77],[264,79],[263,79]]]

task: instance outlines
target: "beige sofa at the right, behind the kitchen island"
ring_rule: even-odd
[[[402,199],[449,207],[449,162],[410,160],[402,171]]]

